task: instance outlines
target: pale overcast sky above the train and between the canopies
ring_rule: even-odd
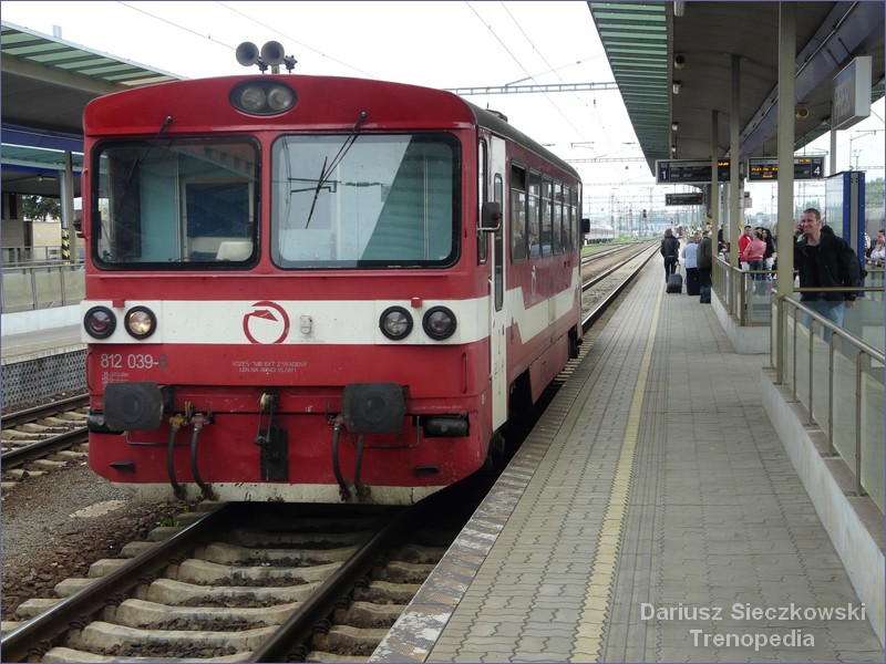
[[[245,70],[236,46],[275,40],[298,61],[296,73],[401,81],[454,89],[514,83],[610,83],[614,76],[587,2],[358,1],[346,2],[53,2],[3,0],[4,21],[53,34],[186,77]],[[256,70],[257,71],[257,70]],[[642,153],[617,91],[470,96],[566,159],[639,159]],[[841,132],[838,170],[849,166],[848,138],[861,167],[883,177],[883,101],[875,116]],[[876,134],[861,134],[878,129]],[[827,137],[814,149],[828,149]],[[853,165],[855,160],[853,158]],[[615,185],[655,188],[643,160],[575,163],[585,198],[609,198]],[[773,188],[772,185],[762,187]],[[625,194],[624,196],[628,196]],[[763,203],[769,189],[754,193]],[[594,203],[600,206],[601,203]]]

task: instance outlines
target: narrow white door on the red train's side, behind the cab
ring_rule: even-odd
[[[490,139],[490,173],[492,175],[493,200],[502,205],[502,224],[492,236],[490,260],[492,261],[492,298],[490,298],[490,353],[492,362],[492,428],[501,427],[507,419],[507,311],[505,293],[505,224],[508,218],[508,201],[504,195],[506,155],[505,142],[496,136]]]

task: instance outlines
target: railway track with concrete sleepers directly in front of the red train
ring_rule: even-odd
[[[17,618],[34,618],[3,636],[3,661],[364,661],[478,498],[445,500],[212,506],[62,582],[59,600],[22,604]]]

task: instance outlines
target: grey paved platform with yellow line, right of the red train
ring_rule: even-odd
[[[854,585],[769,355],[656,260],[583,354],[371,661],[883,662],[882,542]]]

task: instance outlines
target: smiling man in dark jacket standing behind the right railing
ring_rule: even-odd
[[[800,288],[858,287],[861,266],[858,257],[843,238],[822,224],[822,214],[815,208],[803,211],[794,226],[794,268],[800,271]],[[806,291],[800,299],[810,309],[843,326],[846,307],[855,302],[855,291]],[[825,339],[831,336],[825,331]]]

